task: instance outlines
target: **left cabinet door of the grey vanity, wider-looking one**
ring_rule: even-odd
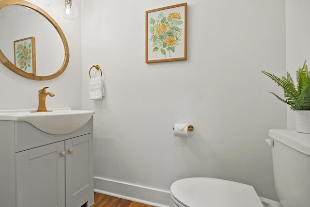
[[[64,141],[16,153],[16,207],[64,207]]]

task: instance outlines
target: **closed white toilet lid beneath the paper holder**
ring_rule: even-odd
[[[252,186],[229,180],[186,178],[175,181],[170,191],[172,200],[186,207],[263,207]]]

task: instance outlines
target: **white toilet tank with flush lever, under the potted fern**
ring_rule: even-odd
[[[276,191],[283,207],[310,207],[310,134],[270,129]]]

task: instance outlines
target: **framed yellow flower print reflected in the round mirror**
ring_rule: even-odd
[[[14,41],[15,65],[26,73],[36,74],[34,37]]]

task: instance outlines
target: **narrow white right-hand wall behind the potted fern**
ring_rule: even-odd
[[[295,78],[296,70],[303,66],[305,60],[310,66],[310,2],[308,0],[286,0],[285,2],[286,68]],[[289,108],[287,127],[295,128],[294,113]]]

